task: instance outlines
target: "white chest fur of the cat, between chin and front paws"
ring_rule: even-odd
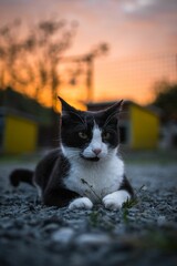
[[[124,175],[124,163],[114,155],[98,162],[73,160],[64,184],[93,203],[101,202],[104,196],[118,190]]]

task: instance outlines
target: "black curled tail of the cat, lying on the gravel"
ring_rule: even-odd
[[[17,187],[21,182],[23,182],[34,186],[33,173],[34,172],[31,170],[17,168],[9,176],[10,184]]]

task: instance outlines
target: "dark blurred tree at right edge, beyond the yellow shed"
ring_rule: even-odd
[[[164,119],[177,121],[177,83],[158,82],[155,94],[154,104],[164,111]]]

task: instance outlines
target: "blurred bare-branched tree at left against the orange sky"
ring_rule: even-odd
[[[20,24],[18,20],[0,29],[0,86],[18,86],[25,93],[30,86],[37,99],[50,89],[54,101],[61,82],[59,63],[72,44],[76,24],[44,20],[23,39],[19,38]]]

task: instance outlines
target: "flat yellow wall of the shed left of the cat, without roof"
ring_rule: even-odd
[[[17,115],[7,115],[4,123],[4,153],[33,152],[37,149],[38,126],[35,122]]]

